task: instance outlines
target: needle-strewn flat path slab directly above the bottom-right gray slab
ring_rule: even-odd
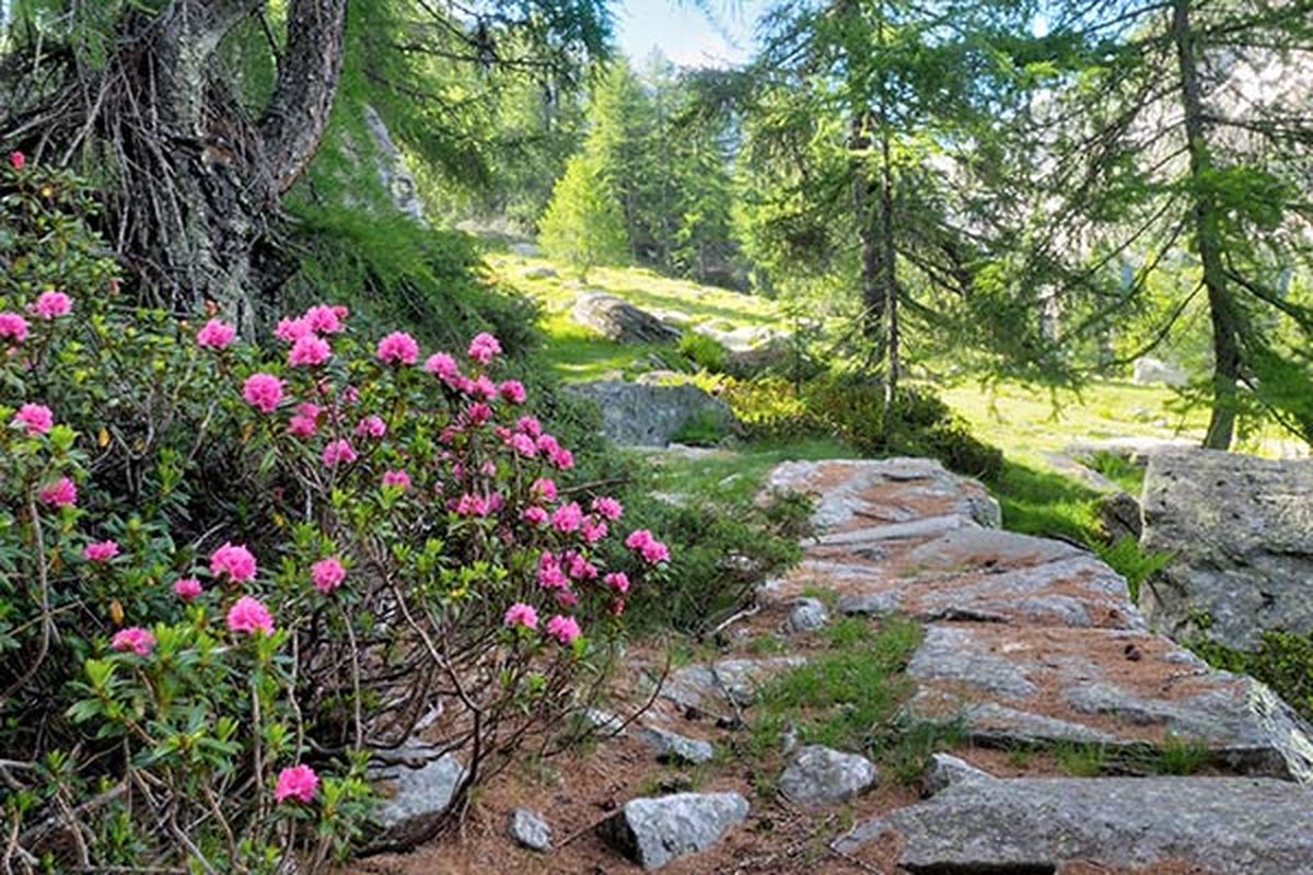
[[[1245,774],[1313,781],[1309,725],[1262,683],[1144,632],[951,623],[907,666],[913,716],[965,720],[977,743],[1197,744]]]

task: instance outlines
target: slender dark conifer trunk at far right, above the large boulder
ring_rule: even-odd
[[[1186,147],[1190,153],[1190,177],[1194,184],[1191,194],[1195,245],[1203,265],[1213,327],[1213,405],[1204,446],[1228,450],[1236,433],[1241,370],[1239,319],[1222,264],[1221,216],[1209,188],[1212,182],[1207,178],[1212,169],[1212,156],[1204,131],[1204,105],[1190,22],[1190,4],[1191,0],[1173,3],[1173,41],[1176,43],[1176,60],[1180,66],[1180,104],[1186,125]]]

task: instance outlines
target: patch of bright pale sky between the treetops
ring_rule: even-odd
[[[727,67],[752,52],[752,25],[768,0],[709,0],[714,20],[691,0],[621,0],[616,10],[620,50],[642,63],[653,49],[676,64]]]

